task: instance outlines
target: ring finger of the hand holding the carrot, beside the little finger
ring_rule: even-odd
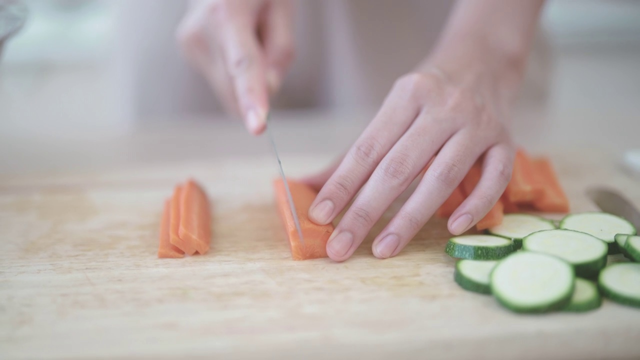
[[[377,258],[396,256],[460,184],[488,146],[472,129],[451,136],[433,159],[412,196],[373,241]]]

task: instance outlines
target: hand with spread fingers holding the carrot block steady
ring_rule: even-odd
[[[330,258],[348,259],[433,156],[415,192],[374,240],[376,257],[396,256],[479,158],[483,176],[449,219],[449,230],[467,231],[497,202],[515,156],[506,124],[508,106],[500,82],[486,75],[488,69],[473,68],[445,74],[426,65],[403,76],[344,159],[305,179],[321,187],[309,209],[317,224],[332,222],[361,190],[327,243]]]

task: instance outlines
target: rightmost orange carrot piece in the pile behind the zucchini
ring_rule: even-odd
[[[569,200],[557,179],[551,161],[548,158],[534,159],[532,165],[543,184],[542,196],[534,200],[534,207],[550,213],[568,213]]]

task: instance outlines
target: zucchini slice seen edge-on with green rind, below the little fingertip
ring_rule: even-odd
[[[497,260],[513,251],[513,241],[492,235],[455,236],[445,247],[445,252],[452,258],[472,260]]]

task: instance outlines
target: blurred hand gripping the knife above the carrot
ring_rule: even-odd
[[[290,0],[192,0],[177,29],[188,60],[254,135],[294,56],[291,10]]]

